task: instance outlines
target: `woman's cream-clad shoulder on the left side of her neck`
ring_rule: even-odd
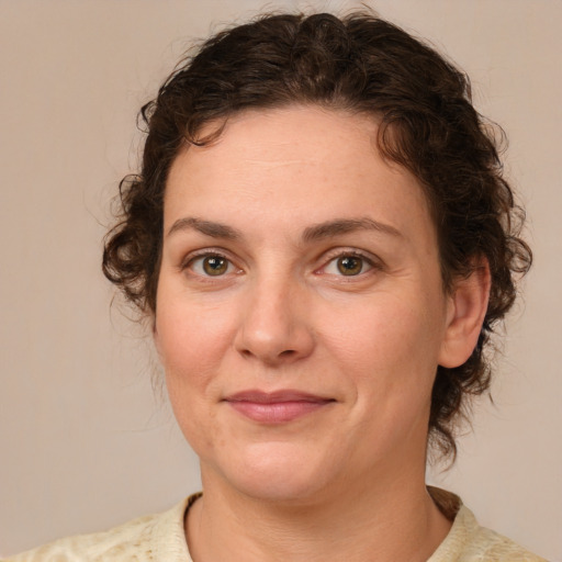
[[[183,515],[195,498],[191,496],[168,512],[139,517],[106,531],[59,539],[4,562],[172,562],[176,559],[184,562],[190,559],[183,533]]]

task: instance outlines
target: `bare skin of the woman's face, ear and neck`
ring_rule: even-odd
[[[424,481],[431,386],[470,356],[488,274],[443,291],[425,195],[375,133],[246,112],[172,165],[155,341],[201,460],[198,562],[423,561],[450,528]],[[319,405],[256,420],[231,401],[256,390]]]

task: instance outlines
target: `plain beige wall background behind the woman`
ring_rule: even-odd
[[[190,37],[261,1],[0,0],[0,554],[164,509],[199,486],[142,330],[110,312],[108,204],[135,114]],[[274,1],[270,7],[341,2]],[[357,5],[348,2],[346,5]],[[562,560],[562,2],[380,0],[472,77],[510,138],[536,267],[456,468],[434,482]]]

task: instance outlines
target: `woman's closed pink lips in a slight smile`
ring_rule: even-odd
[[[232,394],[224,398],[224,402],[254,422],[276,425],[313,414],[336,401],[294,390],[250,390]]]

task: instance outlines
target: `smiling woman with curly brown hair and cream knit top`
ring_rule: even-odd
[[[203,494],[14,560],[541,560],[425,484],[530,266],[465,77],[368,13],[270,15],[143,116],[103,267]]]

